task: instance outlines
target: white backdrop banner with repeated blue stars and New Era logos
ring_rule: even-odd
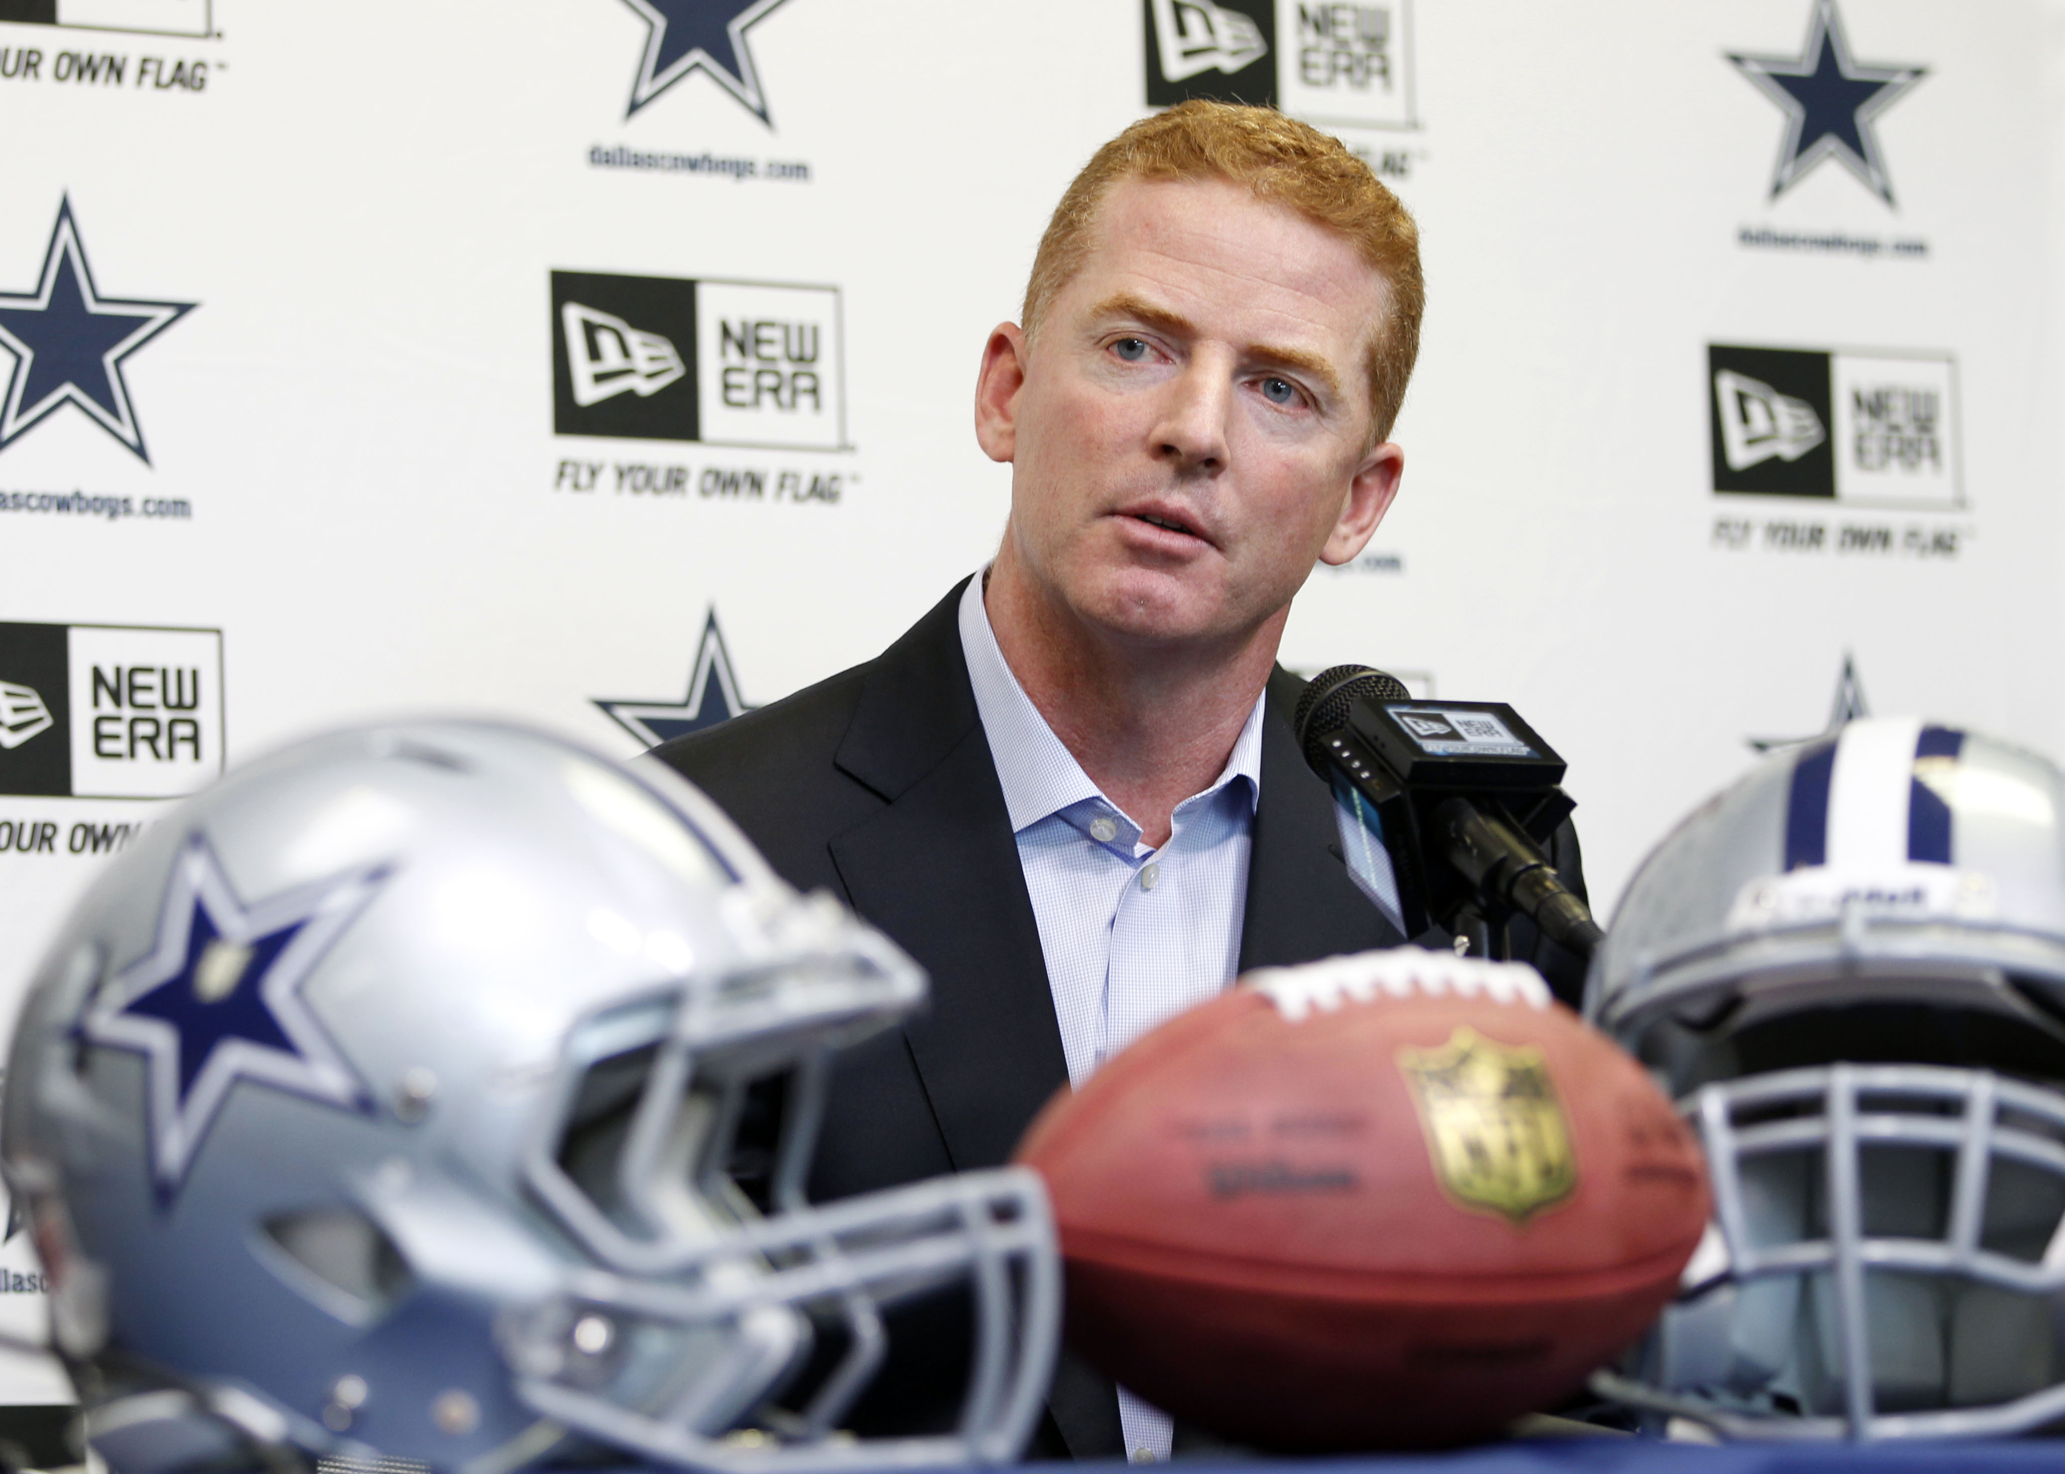
[[[2059,0],[0,0],[0,1014],[297,733],[628,758],[878,652],[995,547],[1047,211],[1196,95],[1425,239],[1404,491],[1289,665],[1516,704],[1609,908],[1846,714],[2057,754],[2061,58]]]

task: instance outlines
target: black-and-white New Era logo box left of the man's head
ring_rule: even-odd
[[[560,436],[845,450],[838,287],[551,273]]]

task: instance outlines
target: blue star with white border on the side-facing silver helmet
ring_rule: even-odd
[[[372,1096],[301,999],[301,983],[384,873],[246,906],[215,851],[180,855],[149,956],[105,983],[81,1020],[95,1045],[145,1057],[151,1175],[169,1201],[240,1080],[370,1111]]]

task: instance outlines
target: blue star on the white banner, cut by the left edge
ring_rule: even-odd
[[[35,293],[0,295],[0,347],[14,355],[14,376],[0,405],[0,448],[60,405],[78,405],[149,464],[122,361],[196,306],[103,297],[66,198]]]

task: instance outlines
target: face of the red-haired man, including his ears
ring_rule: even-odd
[[[1111,636],[1251,634],[1315,559],[1355,557],[1398,487],[1365,370],[1386,297],[1346,237],[1245,188],[1119,184],[1037,343],[989,343],[1002,559]]]

